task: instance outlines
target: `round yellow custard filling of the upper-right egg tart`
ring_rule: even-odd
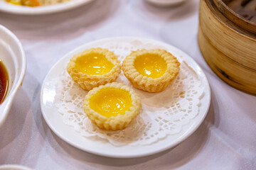
[[[166,72],[167,64],[159,55],[146,54],[134,60],[134,67],[139,74],[156,79]]]

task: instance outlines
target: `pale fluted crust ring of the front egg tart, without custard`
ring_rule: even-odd
[[[97,94],[101,89],[105,88],[115,88],[121,89],[121,91],[128,91],[132,99],[132,106],[129,107],[129,110],[125,111],[124,114],[118,114],[109,118],[93,110],[90,106],[90,99],[95,96],[95,94]],[[139,95],[129,86],[114,82],[99,86],[89,91],[87,96],[85,96],[83,109],[87,117],[92,121],[92,123],[97,125],[97,127],[104,130],[122,130],[126,128],[127,125],[132,123],[132,120],[134,120],[134,118],[139,115],[142,109],[142,100]]]

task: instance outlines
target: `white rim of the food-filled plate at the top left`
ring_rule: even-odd
[[[92,0],[70,0],[69,2],[62,3],[62,4],[55,4],[52,6],[28,7],[28,6],[16,6],[13,4],[9,4],[4,0],[0,0],[0,11],[4,11],[7,13],[15,13],[15,14],[26,14],[26,15],[56,13],[56,12],[66,11],[72,8],[76,8],[78,6],[82,6],[83,4],[87,4],[90,1]]]

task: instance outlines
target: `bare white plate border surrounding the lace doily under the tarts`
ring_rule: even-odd
[[[53,80],[60,77],[68,64],[70,57],[73,57],[74,54],[81,52],[90,47],[98,47],[99,44],[108,43],[108,42],[118,42],[118,43],[129,43],[133,40],[139,40],[141,42],[151,42],[152,44],[158,44],[164,46],[166,49],[171,51],[176,56],[182,56],[183,60],[191,66],[195,72],[198,74],[198,78],[201,80],[201,86],[205,89],[204,96],[201,98],[201,106],[199,107],[199,113],[196,118],[193,118],[190,123],[183,125],[181,132],[176,133],[175,135],[169,135],[163,140],[159,140],[152,145],[142,145],[142,146],[122,146],[115,147],[109,142],[102,142],[102,140],[92,140],[92,138],[83,137],[72,126],[65,125],[63,123],[63,115],[58,113],[58,108],[55,107],[53,100],[56,94],[55,84]],[[148,40],[143,38],[108,38],[103,40],[98,40],[95,42],[90,42],[88,44],[82,45],[77,49],[69,52],[68,55],[65,55],[60,59],[50,72],[47,74],[46,79],[43,81],[41,89],[41,111],[43,113],[43,118],[46,120],[46,123],[53,132],[55,132],[58,137],[68,142],[74,147],[78,147],[86,152],[92,154],[98,154],[105,157],[117,157],[117,158],[131,158],[131,157],[143,157],[150,154],[156,154],[158,152],[164,151],[175,145],[178,145],[181,141],[185,140],[189,135],[191,135],[199,125],[203,122],[206,114],[208,113],[208,108],[210,106],[210,86],[206,75],[203,73],[203,70],[196,64],[196,62],[186,55],[181,50],[178,50],[176,47],[167,45],[163,42],[158,42],[156,40]]]

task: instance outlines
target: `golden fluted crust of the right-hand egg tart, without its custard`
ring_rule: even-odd
[[[147,77],[140,74],[134,67],[134,61],[137,57],[142,55],[156,55],[157,57],[163,58],[166,62],[166,71],[164,74],[159,78]],[[178,75],[179,66],[180,63],[174,55],[171,55],[171,53],[166,50],[159,49],[133,51],[122,62],[124,76],[127,77],[137,89],[142,89],[143,91],[148,92],[164,91],[164,89],[166,89],[166,87],[171,84],[171,81]]]

